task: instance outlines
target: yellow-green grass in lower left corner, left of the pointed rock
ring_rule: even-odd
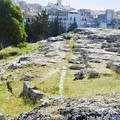
[[[12,82],[11,86],[13,88],[13,96],[6,87],[6,84],[0,85],[0,112],[9,114],[10,117],[19,115],[23,111],[30,111],[33,106],[25,105],[24,101],[18,97],[19,93],[22,91],[22,82]]]

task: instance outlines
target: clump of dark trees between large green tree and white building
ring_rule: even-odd
[[[63,24],[57,17],[54,21],[48,21],[46,11],[38,13],[35,18],[30,22],[28,20],[25,25],[28,42],[36,42],[50,36],[57,36],[65,32]]]

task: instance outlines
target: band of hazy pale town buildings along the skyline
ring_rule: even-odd
[[[76,22],[77,27],[98,27],[98,28],[119,28],[120,27],[120,11],[115,12],[112,9],[90,10],[79,9],[75,10],[69,5],[62,5],[61,0],[56,0],[56,3],[48,3],[47,6],[39,4],[29,4],[21,0],[12,0],[14,4],[20,6],[25,21],[31,19],[42,10],[46,10],[49,21],[54,21],[56,18],[63,24],[66,31],[73,22]]]

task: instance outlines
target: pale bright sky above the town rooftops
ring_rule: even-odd
[[[39,3],[46,6],[48,2],[56,3],[57,0],[24,0],[28,3]],[[120,0],[62,0],[63,5],[70,5],[76,9],[120,10]]]

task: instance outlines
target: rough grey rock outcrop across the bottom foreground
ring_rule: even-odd
[[[55,107],[57,109],[51,113],[49,108]],[[42,112],[44,108],[48,109],[47,114]],[[22,113],[16,120],[120,120],[120,106],[119,100],[114,98],[109,100],[61,98],[42,104],[28,113]]]

